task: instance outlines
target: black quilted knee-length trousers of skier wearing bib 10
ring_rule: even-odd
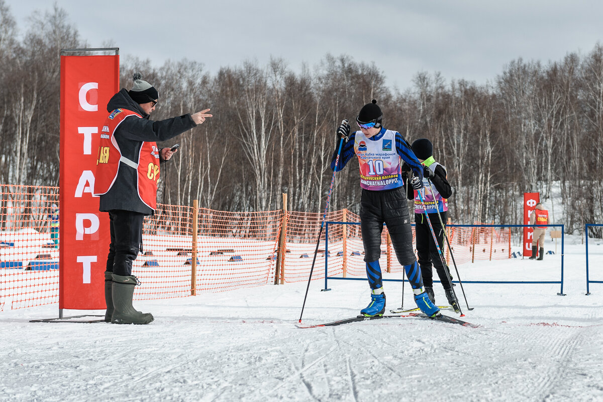
[[[384,191],[363,189],[360,223],[365,262],[372,263],[381,257],[384,223],[390,232],[391,244],[400,265],[409,265],[417,260],[412,249],[412,228],[403,187]]]

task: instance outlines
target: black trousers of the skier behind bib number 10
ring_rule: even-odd
[[[440,212],[442,222],[446,222],[446,212]],[[444,252],[444,228],[440,223],[438,214],[429,214],[429,220],[434,228],[435,238],[438,240],[441,252]],[[434,236],[429,229],[429,223],[425,214],[415,213],[415,237],[417,239],[418,264],[421,266],[421,275],[423,284],[427,287],[434,287],[434,273],[432,267],[435,267],[444,289],[450,289],[450,278],[447,276],[444,265],[435,247]]]

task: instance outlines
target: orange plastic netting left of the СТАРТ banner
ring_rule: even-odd
[[[58,302],[58,187],[0,185],[0,197],[0,311]]]

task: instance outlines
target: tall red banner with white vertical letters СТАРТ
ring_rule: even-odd
[[[61,56],[58,308],[101,310],[109,215],[94,173],[107,102],[119,91],[119,56]]]

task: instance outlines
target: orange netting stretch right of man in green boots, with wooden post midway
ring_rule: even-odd
[[[133,264],[133,274],[142,282],[135,299],[190,296],[274,281],[281,211],[201,208],[196,239],[194,213],[188,206],[158,205],[156,214],[145,219],[143,251]]]

